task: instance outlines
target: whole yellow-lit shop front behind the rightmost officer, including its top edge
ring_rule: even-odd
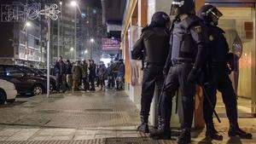
[[[224,29],[230,51],[242,49],[236,72],[230,74],[236,90],[240,118],[255,117],[256,113],[256,48],[255,48],[255,3],[253,0],[218,1],[207,0],[224,15],[219,26]],[[238,50],[240,51],[240,50]],[[217,112],[225,116],[224,104],[218,94]]]

